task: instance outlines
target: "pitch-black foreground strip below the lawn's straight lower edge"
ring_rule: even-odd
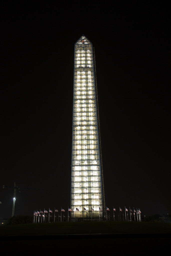
[[[24,237],[23,237],[24,238]],[[169,234],[120,234],[115,235],[69,235],[69,236],[38,236],[23,239],[16,237],[1,240],[3,255],[14,252],[17,255],[48,253],[70,255],[155,255],[166,253],[170,249]]]

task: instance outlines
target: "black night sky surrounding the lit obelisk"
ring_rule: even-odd
[[[168,6],[3,1],[1,184],[15,216],[70,207],[74,44],[95,47],[106,206],[171,213]],[[13,188],[0,190],[0,218]],[[66,215],[67,216],[67,212]]]

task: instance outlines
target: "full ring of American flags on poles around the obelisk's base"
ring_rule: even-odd
[[[58,222],[59,222],[59,217],[61,218],[61,222],[62,222],[62,211],[65,212],[65,210],[61,207],[61,216],[58,214]],[[68,207],[68,221],[69,221],[69,211],[72,211],[71,208]],[[78,208],[76,208],[75,210],[75,221],[76,221],[76,212],[79,211]],[[83,221],[84,221],[84,212],[87,211],[85,207],[83,207]],[[92,211],[94,211],[94,209],[91,207],[91,221],[92,221]],[[102,209],[99,207],[99,211],[102,211]],[[107,216],[107,211],[110,211],[110,209],[108,207],[106,207],[106,221],[110,220],[110,215],[109,217]],[[130,214],[130,221],[132,221],[132,214],[134,214],[134,221],[135,220],[135,215],[137,215],[137,221],[141,221],[141,211],[140,209],[135,210],[135,208],[133,207],[133,210],[129,207],[129,210],[125,207],[125,220],[129,221],[128,219],[128,211]],[[54,207],[54,222],[55,222],[55,212],[58,212],[58,210]],[[119,214],[118,214],[118,218],[121,221],[121,212],[123,212],[123,220],[124,220],[124,211],[122,211],[122,208],[120,208],[119,206]],[[40,211],[35,211],[33,213],[33,223],[42,223],[42,222],[46,222],[46,214],[48,214],[48,222],[50,222],[50,218],[52,217],[52,215],[50,215],[50,213],[53,213],[53,211],[49,208],[49,212],[47,210],[42,211],[40,209]],[[115,221],[115,213],[116,213],[116,208],[113,207],[113,220]],[[126,217],[127,215],[127,217]],[[37,218],[38,217],[38,218]],[[64,221],[65,216],[63,215],[63,221]],[[99,221],[100,221],[100,214],[99,214]]]

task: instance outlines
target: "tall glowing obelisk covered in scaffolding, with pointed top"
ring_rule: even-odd
[[[104,217],[105,197],[92,43],[75,43],[71,219]]]

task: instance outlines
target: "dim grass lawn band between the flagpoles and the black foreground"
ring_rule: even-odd
[[[171,223],[161,222],[56,222],[0,227],[0,236],[53,234],[171,233]]]

